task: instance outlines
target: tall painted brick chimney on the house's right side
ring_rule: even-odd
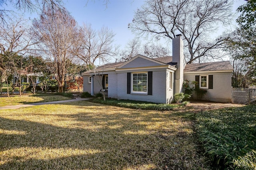
[[[181,35],[176,35],[176,38],[172,39],[172,63],[177,63],[177,70],[174,73],[174,94],[182,92],[184,70],[183,48]]]

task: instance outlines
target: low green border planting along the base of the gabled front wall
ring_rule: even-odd
[[[142,109],[142,110],[172,110],[175,107],[179,107],[177,104],[155,104],[152,102],[142,102],[135,100],[116,100],[116,99],[103,99],[94,98],[91,102],[105,104],[110,106],[125,107],[131,109]]]

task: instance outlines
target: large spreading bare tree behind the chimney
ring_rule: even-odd
[[[192,63],[202,56],[212,57],[215,49],[223,47],[223,36],[211,40],[210,35],[216,33],[217,25],[230,23],[231,10],[229,0],[147,0],[129,27],[140,36],[156,39],[181,34],[188,51],[186,62]]]

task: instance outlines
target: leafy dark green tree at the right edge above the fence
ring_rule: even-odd
[[[233,77],[234,82],[244,87],[256,83],[256,0],[246,2],[237,11],[241,12],[236,20],[239,27],[226,39],[226,50],[236,62],[246,66],[240,72],[243,79]]]

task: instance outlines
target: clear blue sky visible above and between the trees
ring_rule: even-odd
[[[108,5],[104,5],[104,0],[63,0],[64,7],[70,12],[74,19],[82,26],[83,23],[90,23],[95,30],[102,26],[112,29],[116,33],[114,39],[116,45],[121,45],[124,49],[128,41],[134,39],[134,35],[128,29],[128,23],[132,22],[134,12],[144,4],[144,0],[109,0]],[[246,3],[245,0],[234,0],[233,12]],[[38,14],[24,14],[25,18],[38,18]],[[32,21],[32,20],[30,20]],[[29,22],[28,22],[29,23]],[[233,21],[233,25],[236,25]],[[233,29],[234,26],[222,27],[215,35],[220,35],[225,29]],[[146,41],[140,38],[142,43]],[[170,41],[169,41],[170,42]],[[166,46],[166,41],[160,41],[162,46]],[[170,43],[171,44],[171,43]]]

